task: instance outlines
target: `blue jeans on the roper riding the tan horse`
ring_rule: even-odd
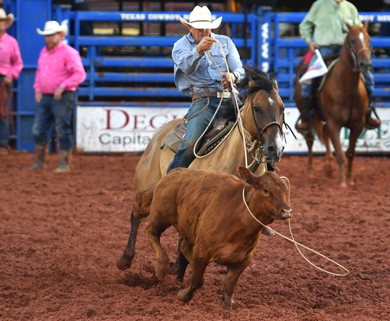
[[[214,120],[218,117],[224,116],[226,112],[226,103],[229,102],[230,99],[223,99],[222,104],[218,110],[217,115]],[[195,156],[193,155],[193,147],[197,142],[198,138],[202,135],[203,131],[206,129],[207,125],[210,122],[210,119],[213,117],[220,98],[210,97],[210,104],[207,108],[202,111],[199,115],[191,118],[187,122],[187,131],[184,135],[183,145],[176,152],[171,164],[168,167],[167,173],[170,172],[171,169],[176,167],[188,167],[189,164],[194,160]],[[192,117],[197,114],[199,111],[204,108],[207,104],[207,97],[197,98],[193,101],[191,108],[188,110],[187,118]],[[212,129],[210,125],[209,130]],[[198,145],[197,148],[200,146]]]

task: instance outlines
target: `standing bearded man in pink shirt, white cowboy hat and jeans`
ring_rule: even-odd
[[[68,33],[68,25],[47,21],[44,30],[46,46],[38,59],[34,90],[35,110],[32,134],[36,157],[31,170],[45,167],[47,133],[55,122],[59,141],[59,167],[56,172],[70,170],[69,160],[73,148],[72,117],[77,86],[85,80],[85,70],[79,52],[62,41]]]

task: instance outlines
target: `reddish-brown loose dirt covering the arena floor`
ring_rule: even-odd
[[[326,177],[323,158],[305,172],[305,156],[284,156],[297,241],[350,270],[345,277],[310,266],[294,245],[262,235],[241,275],[233,312],[222,310],[225,268],[210,264],[186,305],[183,284],[156,281],[155,257],[141,225],[133,267],[119,271],[129,232],[139,156],[74,155],[69,174],[30,172],[33,154],[0,156],[0,319],[6,320],[389,320],[390,158],[357,157],[354,187]],[[288,235],[287,222],[273,228]],[[176,257],[177,234],[163,234]],[[339,268],[304,252],[334,272]],[[189,271],[184,279],[188,283]]]

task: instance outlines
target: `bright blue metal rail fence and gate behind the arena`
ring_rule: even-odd
[[[15,24],[10,31],[18,39],[25,64],[15,88],[17,132],[12,138],[16,139],[17,149],[34,150],[31,134],[35,108],[32,84],[38,55],[44,46],[43,37],[37,34],[36,27],[42,28],[44,22],[50,19],[61,21],[68,18],[73,21],[74,34],[68,37],[68,41],[86,52],[82,60],[87,79],[78,91],[81,105],[165,106],[174,98],[176,102],[170,102],[170,106],[189,106],[188,98],[174,86],[173,61],[170,54],[166,54],[181,35],[80,35],[80,23],[83,21],[178,23],[179,16],[188,20],[187,12],[71,12],[69,7],[52,6],[51,0],[8,0],[5,8],[15,14]],[[295,67],[307,44],[298,36],[283,37],[280,25],[298,24],[305,13],[275,13],[259,9],[257,13],[248,15],[220,12],[215,14],[217,16],[222,16],[223,23],[231,26],[237,48],[246,51],[247,59],[243,59],[243,63],[256,63],[266,72],[273,69],[285,104],[294,106]],[[388,23],[390,13],[363,12],[361,19]],[[388,49],[390,37],[372,37],[372,46],[374,49]],[[143,55],[104,55],[110,47],[142,48]],[[156,53],[156,48],[168,50]],[[378,100],[377,105],[390,106],[390,58],[373,57],[372,61],[376,82],[373,96]],[[110,102],[110,97],[116,101]],[[140,101],[140,97],[146,97],[148,101]],[[119,101],[121,98],[124,101]]]

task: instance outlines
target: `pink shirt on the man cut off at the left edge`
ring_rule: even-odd
[[[0,37],[0,75],[18,79],[23,69],[18,42],[12,35],[4,32]]]

